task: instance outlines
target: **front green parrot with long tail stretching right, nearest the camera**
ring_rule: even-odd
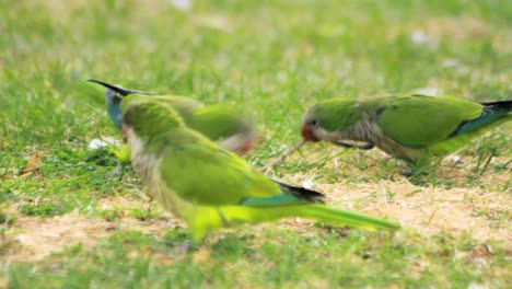
[[[133,94],[121,102],[123,139],[150,197],[184,219],[194,242],[211,230],[286,217],[395,230],[399,224],[322,204],[322,194],[279,184],[188,128],[167,103]]]

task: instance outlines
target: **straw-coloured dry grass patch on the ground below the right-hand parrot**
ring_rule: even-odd
[[[307,160],[295,155],[289,162],[314,163],[329,153],[333,158],[322,166],[322,172],[312,169],[284,178],[303,184],[306,180],[314,181],[314,181],[314,189],[323,192],[328,204],[370,215],[388,216],[398,220],[404,228],[416,230],[424,236],[443,232],[455,235],[468,233],[478,241],[496,240],[508,251],[512,250],[510,169],[502,172],[488,169],[478,173],[469,167],[472,160],[468,157],[462,157],[463,163],[454,163],[451,158],[446,158],[432,172],[432,180],[441,184],[427,182],[417,185],[402,176],[399,167],[387,172],[382,165],[383,158],[392,159],[379,150],[340,154],[339,149],[310,149],[312,151],[305,153]],[[360,162],[368,164],[361,169]],[[510,163],[508,157],[490,160],[490,165],[507,163]],[[339,176],[336,172],[339,172]],[[325,183],[324,175],[328,175],[330,184]]]

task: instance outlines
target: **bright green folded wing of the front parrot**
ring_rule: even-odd
[[[160,173],[167,186],[183,199],[198,205],[222,206],[241,205],[251,197],[281,194],[276,183],[243,159],[186,127],[179,129],[172,137],[173,143],[163,151]]]

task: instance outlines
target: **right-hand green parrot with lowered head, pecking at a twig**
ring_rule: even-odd
[[[512,101],[476,103],[459,97],[342,97],[319,102],[303,118],[310,141],[376,146],[414,170],[431,157],[453,152],[472,138],[512,118]]]

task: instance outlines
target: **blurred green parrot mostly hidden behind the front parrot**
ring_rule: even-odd
[[[225,104],[206,106],[203,103],[187,96],[154,95],[149,92],[124,89],[98,80],[90,79],[89,81],[106,88],[105,103],[107,112],[119,131],[121,129],[120,103],[123,97],[130,94],[142,94],[152,95],[153,99],[170,104],[188,127],[217,141],[224,149],[245,154],[256,142],[256,126],[251,115],[243,109]],[[130,160],[126,158],[129,153],[127,154],[126,150],[127,148],[121,146],[115,152],[118,165],[110,174],[112,176],[120,174],[123,167],[129,165]]]

